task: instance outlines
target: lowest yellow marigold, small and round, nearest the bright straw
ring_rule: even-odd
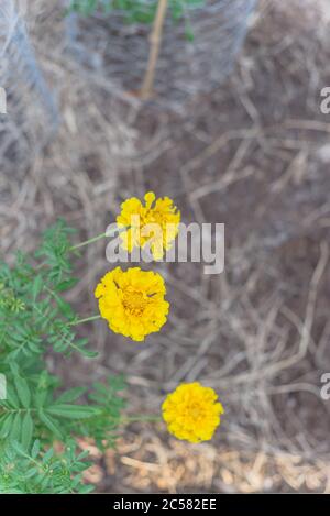
[[[162,406],[168,431],[189,442],[209,441],[224,413],[217,393],[198,382],[179,385]]]

